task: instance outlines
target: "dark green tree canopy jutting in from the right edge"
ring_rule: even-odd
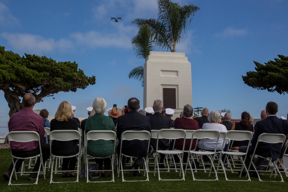
[[[268,61],[260,64],[254,61],[256,71],[247,72],[242,76],[245,84],[257,89],[277,92],[279,94],[288,93],[288,57],[278,55],[275,61]]]

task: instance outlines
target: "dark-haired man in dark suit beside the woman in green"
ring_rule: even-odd
[[[118,124],[116,129],[116,135],[121,142],[121,134],[124,131],[133,130],[133,131],[149,131],[151,133],[151,126],[149,117],[141,115],[138,113],[138,109],[140,108],[140,102],[137,98],[130,98],[128,100],[128,110],[129,113],[125,115],[121,115],[118,117]],[[151,155],[153,148],[149,147],[149,153],[147,153],[147,140],[125,140],[122,142],[122,153],[124,155],[140,157],[135,160],[135,163],[132,165],[130,169],[135,169],[135,171],[130,171],[134,176],[141,176],[141,173],[138,170],[139,166],[142,166],[144,160],[142,157],[146,157],[147,155]],[[117,146],[118,154],[120,153],[120,144]],[[122,163],[125,164],[126,158],[123,157]]]

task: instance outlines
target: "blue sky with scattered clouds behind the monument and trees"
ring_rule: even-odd
[[[173,2],[177,2],[174,1]],[[288,1],[178,1],[200,7],[176,52],[185,52],[192,65],[193,107],[230,109],[232,118],[243,111],[260,118],[269,101],[278,104],[278,117],[288,113],[287,95],[255,90],[242,76],[254,71],[253,61],[268,62],[277,54],[288,56]],[[11,1],[0,0],[0,45],[23,56],[45,55],[58,61],[78,63],[96,84],[85,90],[60,92],[37,103],[54,115],[58,105],[68,100],[76,117],[86,117],[86,108],[95,97],[103,97],[107,108],[126,105],[137,97],[143,105],[141,83],[128,73],[144,60],[137,60],[131,39],[137,34],[135,18],[157,18],[156,0],[111,1]],[[109,21],[110,16],[123,21]],[[155,51],[161,51],[156,48]],[[166,51],[166,50],[163,50]],[[158,99],[158,98],[155,98]],[[0,91],[0,122],[9,108]],[[151,103],[152,105],[152,103]],[[5,121],[5,120],[4,120]]]

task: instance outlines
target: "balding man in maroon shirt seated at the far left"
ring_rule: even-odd
[[[8,128],[9,132],[11,131],[35,131],[40,136],[40,141],[42,142],[44,139],[44,122],[43,117],[38,115],[37,113],[34,113],[33,107],[35,105],[35,97],[33,94],[28,93],[24,95],[22,99],[23,103],[23,109],[17,113],[14,113],[11,115],[9,122],[8,122]],[[37,154],[39,154],[39,146],[38,141],[31,141],[31,142],[11,142],[11,151],[12,154],[18,157],[32,157]],[[41,151],[42,151],[42,157],[43,162],[49,158],[50,156],[50,146],[49,144],[42,144],[41,143]],[[14,158],[14,162],[17,159]],[[19,171],[22,162],[24,159],[19,159],[16,163],[15,169],[16,172]],[[36,164],[34,166],[33,172],[37,172],[40,166],[40,158],[37,159]],[[6,170],[6,172],[3,174],[3,177],[5,180],[9,181],[11,172],[13,169],[13,163],[11,163],[11,166],[9,169]],[[42,178],[43,175],[39,175],[39,178]],[[37,178],[36,173],[31,173],[29,175],[28,180],[35,180]],[[13,180],[13,178],[12,178]]]

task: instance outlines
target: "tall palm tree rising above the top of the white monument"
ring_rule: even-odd
[[[175,52],[176,44],[183,41],[186,29],[190,26],[194,13],[200,10],[195,5],[173,3],[170,0],[157,0],[158,19],[135,19],[132,24],[141,27],[147,24],[154,33],[154,43],[162,49],[170,49]]]

